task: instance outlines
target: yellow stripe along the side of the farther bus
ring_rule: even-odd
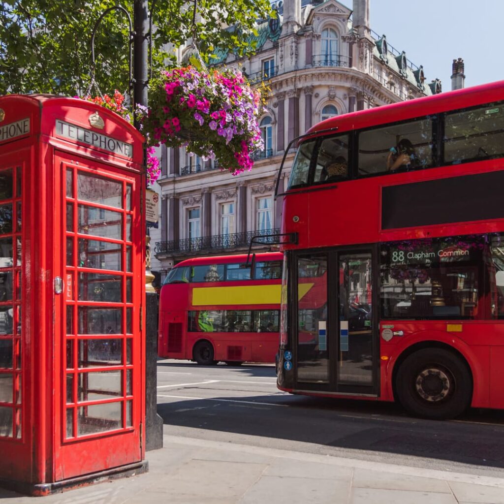
[[[280,304],[282,286],[195,287],[193,306],[225,304]]]

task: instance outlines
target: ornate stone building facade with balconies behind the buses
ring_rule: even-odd
[[[279,232],[278,169],[290,141],[312,124],[441,91],[437,79],[427,83],[421,66],[370,29],[369,1],[353,0],[353,11],[336,0],[277,1],[277,18],[250,37],[254,56],[221,51],[212,61],[271,89],[260,117],[265,146],[254,168],[235,177],[183,149],[162,149],[160,225],[151,233],[161,278],[183,259],[243,253],[252,235]],[[291,149],[280,190],[293,158]]]

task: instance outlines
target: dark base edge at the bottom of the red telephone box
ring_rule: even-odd
[[[23,493],[25,495],[43,496],[50,495],[52,493],[60,493],[67,490],[73,490],[81,486],[88,486],[95,483],[102,483],[104,481],[111,481],[113,479],[129,478],[130,476],[136,476],[137,474],[142,474],[148,471],[149,462],[147,460],[143,460],[134,464],[114,467],[105,471],[99,471],[76,478],[56,481],[55,483],[32,484],[0,478],[0,487]]]

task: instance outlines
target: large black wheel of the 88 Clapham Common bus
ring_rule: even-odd
[[[445,420],[470,405],[472,376],[466,363],[443,348],[424,348],[404,359],[396,375],[396,393],[414,416]]]

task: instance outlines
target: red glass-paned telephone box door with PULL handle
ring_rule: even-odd
[[[61,480],[142,459],[143,293],[134,279],[144,274],[144,230],[140,175],[63,153],[54,166],[64,195],[54,294]]]

